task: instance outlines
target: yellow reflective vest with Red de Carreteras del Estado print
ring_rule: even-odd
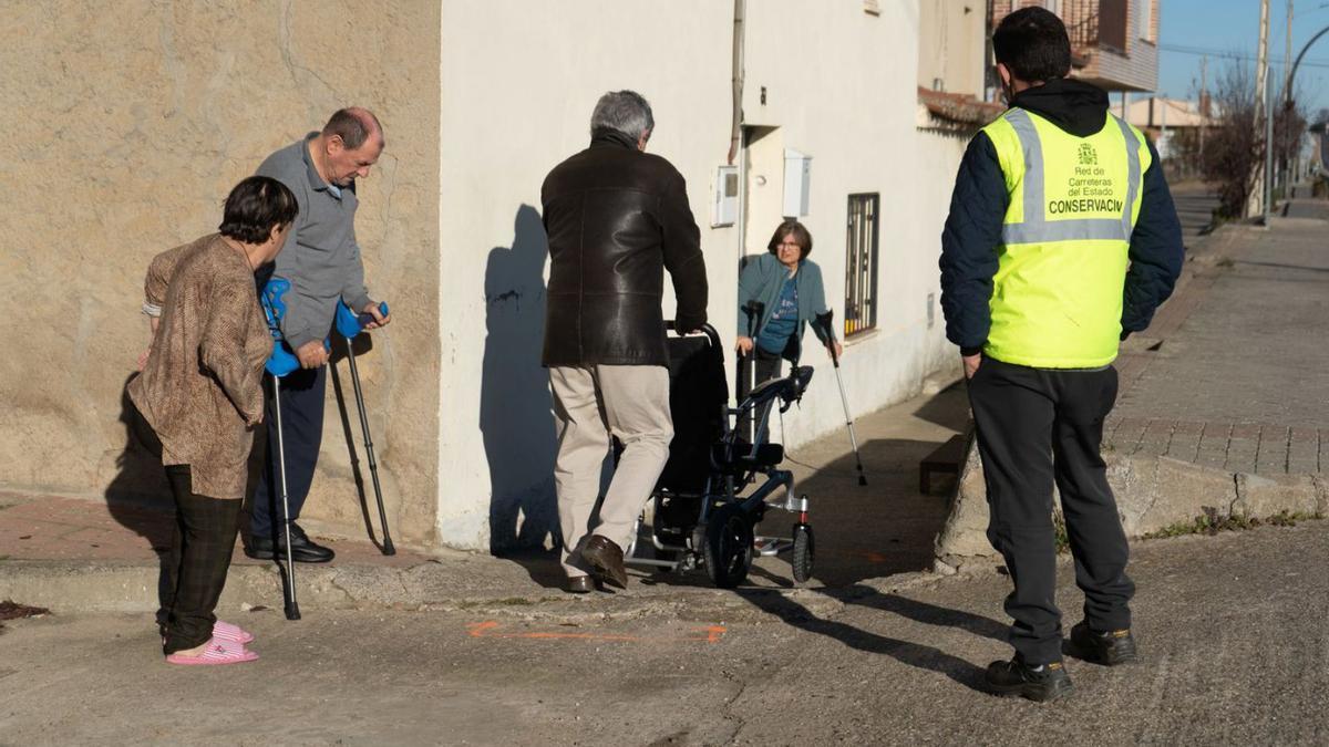
[[[1150,167],[1144,136],[1107,114],[1098,133],[1075,137],[1025,109],[983,132],[1010,194],[983,351],[1035,368],[1112,363]]]

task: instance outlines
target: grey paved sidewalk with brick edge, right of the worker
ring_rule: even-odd
[[[1172,299],[1123,347],[1107,448],[1269,476],[1329,467],[1329,207],[1288,214],[1189,247]]]

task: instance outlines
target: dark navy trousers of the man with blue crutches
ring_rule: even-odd
[[[263,472],[254,489],[250,508],[250,536],[275,538],[284,521],[282,514],[282,473],[276,461],[276,407],[271,393],[271,376],[264,375],[267,387],[267,455]],[[327,392],[327,366],[300,368],[280,379],[282,436],[286,445],[287,501],[291,518],[300,517],[304,498],[314,484],[314,468],[319,464],[323,441],[323,397]]]

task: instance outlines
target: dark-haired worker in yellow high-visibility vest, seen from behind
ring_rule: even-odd
[[[1066,650],[1135,658],[1127,544],[1099,453],[1119,342],[1148,327],[1181,271],[1181,227],[1158,153],[1069,80],[1061,19],[1023,8],[993,35],[1010,109],[969,144],[942,234],[941,304],[961,348],[990,522],[1010,570],[1015,657],[989,687],[1034,700],[1071,690],[1054,601],[1053,485],[1084,619]]]

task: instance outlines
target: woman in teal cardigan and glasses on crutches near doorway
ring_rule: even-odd
[[[767,243],[768,254],[748,259],[739,274],[739,339],[735,346],[739,370],[738,399],[760,384],[780,376],[780,362],[797,362],[803,352],[803,323],[811,323],[821,344],[839,359],[844,352],[829,326],[816,319],[829,314],[821,268],[808,259],[812,234],[797,221],[784,221]],[[739,425],[747,429],[747,423]]]

